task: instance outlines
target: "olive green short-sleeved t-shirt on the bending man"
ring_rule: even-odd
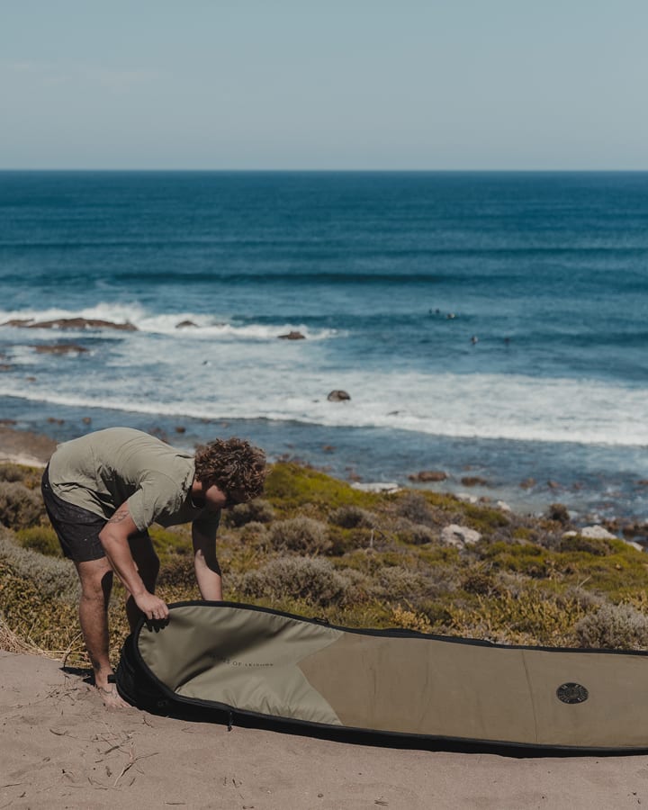
[[[198,521],[215,536],[220,512],[193,506],[193,455],[132,428],[97,430],[59,445],[49,461],[49,483],[58,498],[102,518],[122,503],[139,531],[151,523]]]

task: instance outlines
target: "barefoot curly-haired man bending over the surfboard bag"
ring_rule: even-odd
[[[131,428],[98,430],[58,446],[43,473],[43,500],[81,581],[81,631],[106,706],[127,705],[109,658],[112,572],[128,593],[131,629],[142,614],[166,619],[166,603],[155,595],[159,560],[147,530],[152,523],[191,522],[202,599],[222,599],[220,509],[257,498],[265,477],[263,450],[238,438],[218,439],[195,456]]]

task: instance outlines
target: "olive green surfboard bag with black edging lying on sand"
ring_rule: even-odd
[[[648,653],[352,630],[233,602],[140,623],[117,686],[157,713],[367,742],[648,749]]]

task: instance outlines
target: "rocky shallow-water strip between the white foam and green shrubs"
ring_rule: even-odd
[[[27,416],[20,403],[13,404],[14,408],[3,409],[4,419],[0,419],[0,462],[44,466],[58,443],[114,426],[138,428],[189,450],[212,437],[238,435],[264,447],[271,463],[294,461],[347,483],[395,482],[401,488],[454,495],[472,503],[495,506],[503,502],[512,511],[533,517],[542,517],[554,504],[561,504],[574,522],[583,526],[606,523],[627,527],[647,522],[648,466],[641,448],[631,461],[644,464],[645,470],[626,472],[621,481],[614,470],[606,473],[606,460],[598,458],[597,448],[530,448],[497,440],[462,444],[444,437],[384,437],[378,429],[151,417],[71,406],[50,409],[47,403],[33,402]],[[403,447],[400,442],[410,445]],[[486,454],[481,462],[473,445],[482,446],[482,454]],[[530,461],[534,450],[537,464]],[[581,457],[576,458],[579,453]],[[565,464],[565,458],[572,464],[571,477],[567,468],[564,477],[557,476],[550,466],[554,455],[562,456],[556,464]],[[466,463],[473,458],[474,464]],[[580,467],[587,469],[577,476]],[[445,478],[417,479],[419,473],[429,471],[442,471]]]

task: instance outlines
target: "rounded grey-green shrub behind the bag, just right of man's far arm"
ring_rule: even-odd
[[[348,580],[328,560],[313,557],[276,557],[257,571],[245,573],[238,585],[246,597],[303,599],[326,606],[342,599]]]

